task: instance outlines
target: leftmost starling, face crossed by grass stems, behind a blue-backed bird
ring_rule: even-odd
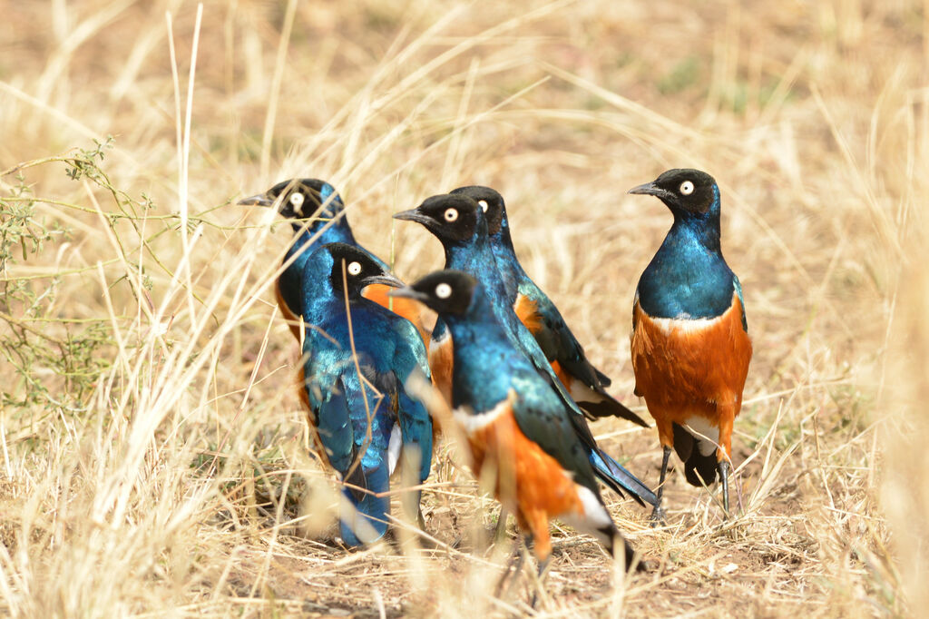
[[[290,178],[274,185],[264,193],[258,193],[242,198],[238,204],[257,204],[261,206],[274,206],[277,204],[278,212],[284,218],[291,220],[294,232],[297,233],[294,243],[287,249],[284,262],[291,261],[276,283],[276,295],[281,313],[294,334],[300,341],[300,307],[301,299],[301,272],[309,256],[309,248],[313,244],[346,243],[361,245],[355,240],[351,227],[345,216],[345,202],[338,191],[324,180],[319,178]],[[308,221],[308,225],[306,222]],[[362,249],[364,249],[362,247]],[[365,250],[367,251],[367,250]],[[389,270],[383,260],[369,255],[385,270]],[[295,257],[294,257],[295,256]],[[375,303],[383,305],[388,310],[403,316],[411,321],[420,336],[428,342],[429,330],[424,307],[407,299],[393,299],[387,296],[390,288],[383,284],[372,284],[363,292],[363,295]]]

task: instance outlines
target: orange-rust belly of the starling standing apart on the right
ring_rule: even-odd
[[[733,295],[726,313],[709,320],[654,319],[638,303],[633,313],[635,389],[658,424],[661,442],[672,444],[672,422],[684,425],[692,415],[731,428],[752,359],[739,296]],[[720,438],[728,442],[728,436]]]

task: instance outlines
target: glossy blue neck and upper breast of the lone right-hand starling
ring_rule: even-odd
[[[732,271],[719,243],[719,190],[706,213],[672,209],[674,225],[642,273],[638,302],[654,318],[701,319],[732,305]]]

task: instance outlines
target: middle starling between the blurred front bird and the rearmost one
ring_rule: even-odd
[[[489,309],[503,325],[503,334],[510,346],[526,356],[530,365],[543,376],[553,394],[571,412],[570,418],[575,430],[583,435],[585,441],[595,445],[582,410],[571,399],[545,359],[539,344],[526,326],[519,322],[513,306],[507,300],[504,283],[488,240],[487,221],[478,203],[461,194],[440,194],[394,217],[423,224],[438,237],[445,249],[445,269],[464,271],[481,282],[484,294],[488,297]],[[454,400],[454,366],[459,359],[454,350],[456,346],[444,321],[439,319],[429,345],[429,365],[433,382],[450,403]],[[614,489],[622,487],[641,505],[655,504],[655,494],[608,454],[592,449],[587,455],[595,476],[608,486]]]

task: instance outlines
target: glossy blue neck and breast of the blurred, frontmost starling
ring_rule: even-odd
[[[483,285],[475,288],[466,313],[442,314],[441,318],[454,342],[452,406],[467,404],[475,413],[491,410],[506,398],[510,389],[510,375],[506,370],[511,364],[508,358],[515,350],[494,314]]]

